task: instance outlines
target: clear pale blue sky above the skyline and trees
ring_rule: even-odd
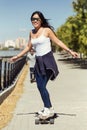
[[[55,30],[74,14],[74,0],[0,0],[0,43],[18,37],[28,39],[31,14],[38,10]]]

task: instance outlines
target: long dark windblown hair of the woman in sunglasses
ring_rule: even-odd
[[[41,19],[41,21],[42,21],[42,23],[41,23],[41,26],[42,26],[42,27],[48,27],[48,28],[54,30],[54,28],[53,28],[53,27],[49,24],[49,22],[48,22],[49,19],[46,19],[46,18],[44,17],[44,15],[43,15],[40,11],[35,11],[35,12],[33,12],[32,15],[31,15],[31,19],[32,19],[32,17],[33,17],[35,14],[38,14],[38,16],[40,17],[40,19]]]

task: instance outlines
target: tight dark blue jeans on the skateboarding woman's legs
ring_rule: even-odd
[[[38,90],[40,92],[42,101],[44,103],[44,107],[47,107],[47,108],[52,107],[49,92],[46,88],[47,82],[50,78],[50,73],[51,73],[50,70],[47,71],[46,75],[41,75],[41,74],[35,73]]]

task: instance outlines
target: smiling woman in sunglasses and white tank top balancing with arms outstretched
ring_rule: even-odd
[[[28,45],[21,53],[12,57],[11,61],[17,60],[30,51],[32,46],[34,47],[36,51],[35,77],[37,87],[44,104],[44,109],[39,111],[38,114],[40,114],[41,117],[47,118],[53,116],[54,109],[52,107],[50,95],[47,91],[46,85],[49,79],[54,80],[59,73],[51,51],[51,41],[69,52],[74,58],[76,58],[78,54],[70,50],[56,37],[52,26],[50,26],[48,20],[45,19],[44,15],[40,11],[33,12],[31,15],[31,22],[34,29],[30,31]]]

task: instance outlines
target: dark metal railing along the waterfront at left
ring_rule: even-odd
[[[14,63],[0,59],[0,92],[11,86],[26,63],[26,56]]]

